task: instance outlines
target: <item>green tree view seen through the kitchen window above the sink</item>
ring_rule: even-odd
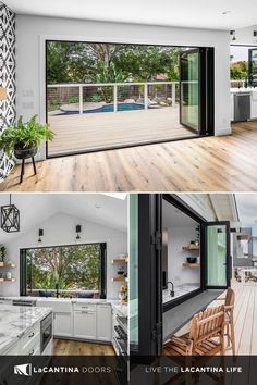
[[[28,287],[99,290],[100,246],[32,249],[27,253]]]

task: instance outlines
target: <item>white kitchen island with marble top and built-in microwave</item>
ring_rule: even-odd
[[[45,307],[0,307],[0,355],[35,356],[51,352],[52,337],[41,346],[42,325],[51,328],[52,309]]]

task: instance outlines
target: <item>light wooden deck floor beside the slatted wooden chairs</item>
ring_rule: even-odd
[[[236,281],[232,281],[231,287],[235,291],[235,351],[241,356],[257,355],[257,283],[243,285]],[[224,298],[225,291],[220,298]],[[210,306],[219,306],[222,301],[213,301]],[[189,324],[185,325],[176,334],[183,334],[188,331]],[[227,355],[232,355],[232,350],[227,350]]]

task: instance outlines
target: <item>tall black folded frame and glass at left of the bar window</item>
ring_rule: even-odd
[[[161,195],[131,195],[130,206],[130,350],[156,356],[162,350]]]

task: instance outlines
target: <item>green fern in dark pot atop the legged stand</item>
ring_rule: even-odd
[[[5,151],[8,157],[14,153],[17,159],[27,159],[37,153],[44,139],[52,140],[54,134],[47,124],[37,123],[36,117],[24,123],[23,116],[20,116],[13,126],[4,129],[0,136],[0,150]]]

